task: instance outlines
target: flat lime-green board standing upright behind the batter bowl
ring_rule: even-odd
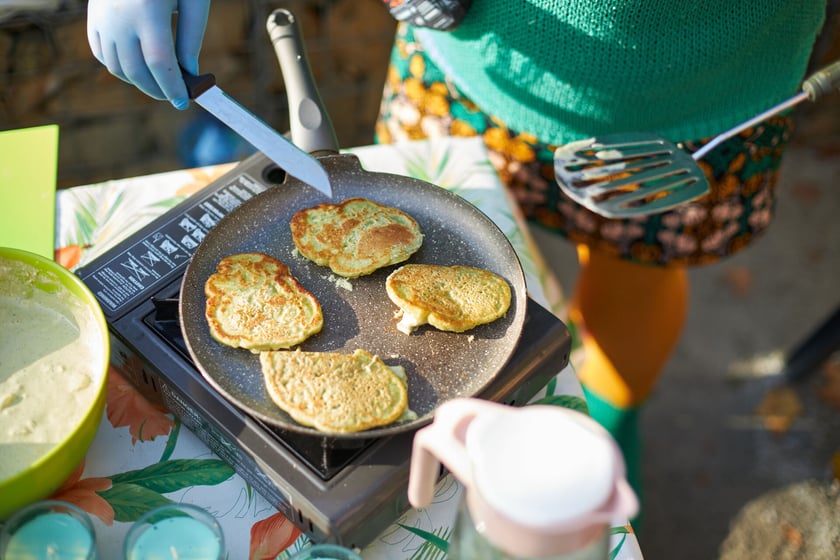
[[[53,258],[57,166],[57,125],[0,131],[0,247]]]

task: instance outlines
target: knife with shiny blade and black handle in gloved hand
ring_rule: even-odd
[[[183,68],[181,72],[190,99],[229,126],[286,173],[332,197],[329,175],[316,158],[229,97],[216,85],[213,74],[196,76]]]

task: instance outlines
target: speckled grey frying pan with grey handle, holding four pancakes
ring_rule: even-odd
[[[286,82],[292,139],[300,147],[317,152],[329,175],[333,200],[364,197],[407,212],[424,234],[422,247],[408,262],[491,270],[510,283],[511,307],[502,319],[466,333],[447,333],[429,326],[411,335],[398,331],[394,316],[397,308],[385,292],[385,279],[399,265],[337,281],[329,269],[300,256],[294,251],[289,222],[297,211],[327,199],[287,175],[282,183],[229,212],[196,249],[184,273],[180,295],[180,321],[187,349],[211,386],[274,427],[339,439],[369,439],[417,429],[431,421],[441,403],[479,394],[513,354],[527,306],[522,267],[501,230],[464,199],[430,183],[366,171],[355,156],[339,154],[332,124],[314,89],[294,16],[276,10],[269,17],[268,27]],[[305,111],[300,110],[301,105],[306,106]],[[315,118],[311,118],[313,111],[318,112]],[[310,118],[299,118],[304,113]],[[267,158],[265,162],[271,165]],[[216,265],[226,256],[251,251],[284,262],[320,302],[324,327],[300,349],[349,354],[363,348],[388,365],[403,366],[408,378],[408,405],[417,414],[415,420],[364,432],[325,434],[298,424],[272,402],[265,390],[258,355],[213,340],[204,315],[204,283]]]

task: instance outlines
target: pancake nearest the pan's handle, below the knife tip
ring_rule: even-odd
[[[414,218],[366,198],[306,208],[289,227],[301,255],[345,278],[401,263],[423,244]]]

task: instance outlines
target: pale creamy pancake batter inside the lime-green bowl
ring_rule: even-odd
[[[44,457],[90,410],[102,375],[95,321],[49,274],[0,258],[0,481]]]

